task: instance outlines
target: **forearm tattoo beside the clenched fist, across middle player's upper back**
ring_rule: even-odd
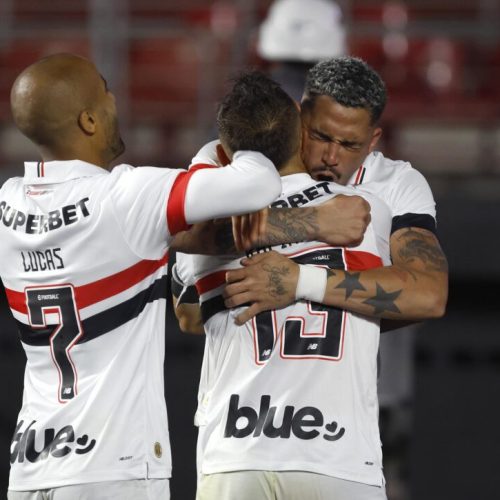
[[[306,241],[318,234],[318,228],[318,210],[314,207],[271,209],[267,219],[267,234],[261,245]]]

